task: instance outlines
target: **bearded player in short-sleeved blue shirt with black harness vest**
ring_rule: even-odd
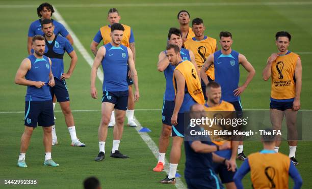
[[[54,34],[55,26],[51,20],[49,19],[43,20],[41,22],[41,27],[44,33],[46,44],[44,55],[49,57],[52,61],[51,69],[55,80],[55,86],[50,87],[51,95],[52,96],[55,95],[58,102],[60,103],[62,112],[65,117],[67,129],[70,134],[71,145],[84,147],[86,145],[80,142],[80,140],[76,136],[75,123],[73,115],[70,110],[69,93],[65,82],[65,79],[69,79],[74,71],[77,62],[77,55],[66,38]],[[64,73],[63,58],[65,51],[71,58],[70,66],[67,73]],[[52,145],[57,145],[58,138],[56,135],[55,125],[53,125],[52,127],[52,138],[53,138]]]

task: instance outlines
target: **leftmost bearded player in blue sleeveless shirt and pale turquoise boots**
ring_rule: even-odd
[[[45,149],[44,165],[57,167],[51,158],[52,135],[51,126],[54,125],[53,104],[49,86],[54,86],[54,77],[51,71],[51,60],[44,56],[44,37],[36,35],[32,39],[34,54],[23,59],[15,76],[15,83],[27,86],[25,96],[24,133],[20,140],[20,154],[18,167],[28,167],[25,162],[26,151],[34,129],[42,126],[43,145]]]

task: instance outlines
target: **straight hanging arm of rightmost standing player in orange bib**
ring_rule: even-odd
[[[298,57],[296,68],[295,68],[295,79],[296,79],[296,96],[293,102],[293,110],[297,111],[300,109],[300,94],[302,85],[302,65],[301,59]]]

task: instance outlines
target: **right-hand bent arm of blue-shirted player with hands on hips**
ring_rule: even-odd
[[[250,62],[247,60],[247,58],[243,54],[239,54],[239,62],[248,72],[248,75],[247,75],[247,79],[245,83],[233,91],[234,96],[236,97],[240,96],[240,94],[244,92],[244,90],[247,88],[248,84],[250,83],[250,81],[255,75],[255,70],[253,66],[250,64]]]

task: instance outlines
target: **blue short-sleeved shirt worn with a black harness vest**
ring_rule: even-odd
[[[48,52],[49,45],[51,45],[52,43],[54,43],[53,52]],[[45,41],[44,55],[48,56],[52,61],[52,73],[54,77],[58,79],[61,78],[62,74],[64,73],[63,55],[65,51],[67,53],[71,53],[73,50],[74,49],[69,41],[59,35],[55,37],[54,41]]]

